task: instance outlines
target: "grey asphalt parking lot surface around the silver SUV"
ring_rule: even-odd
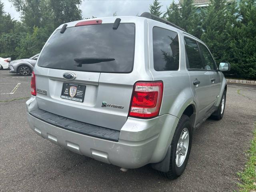
[[[36,135],[28,126],[25,110],[30,78],[0,71],[1,191],[237,190],[236,172],[244,168],[244,151],[256,121],[256,86],[228,84],[224,118],[208,119],[194,132],[184,174],[169,181],[150,166],[124,173]]]

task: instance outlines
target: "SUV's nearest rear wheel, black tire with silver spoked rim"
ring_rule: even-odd
[[[187,133],[188,135],[185,136],[185,134]],[[184,136],[185,139],[181,140],[180,136]],[[176,179],[184,172],[186,165],[188,163],[191,144],[192,125],[189,117],[183,114],[178,122],[176,130],[174,132],[174,136],[172,138],[169,171],[159,172],[161,176],[164,176],[165,178],[168,179]],[[186,147],[186,150],[184,150],[184,146]],[[178,162],[178,156],[180,156],[180,162]]]

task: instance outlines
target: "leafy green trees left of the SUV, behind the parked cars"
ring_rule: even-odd
[[[0,56],[28,58],[41,51],[61,24],[81,20],[82,0],[10,0],[21,22],[4,12],[0,2]]]

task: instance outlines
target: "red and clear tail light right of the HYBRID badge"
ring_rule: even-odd
[[[158,116],[162,97],[163,82],[137,82],[134,85],[129,116],[152,118]]]

